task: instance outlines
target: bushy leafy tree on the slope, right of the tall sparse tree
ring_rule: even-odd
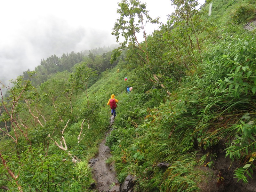
[[[171,0],[175,11],[169,15],[167,24],[162,27],[163,34],[170,50],[168,60],[180,63],[185,67],[178,70],[190,70],[190,66],[197,69],[196,63],[201,61],[201,46],[206,42],[208,33],[215,29],[207,18],[203,18],[204,10],[198,10],[197,0]]]

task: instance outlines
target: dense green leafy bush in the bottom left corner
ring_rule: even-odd
[[[6,166],[19,173],[17,183],[22,186],[23,191],[72,191],[72,184],[76,181],[72,162],[62,161],[58,155],[47,156],[42,146],[25,147],[19,156],[5,155],[3,159],[7,161],[12,159],[6,163]],[[1,166],[0,174],[7,175],[8,172],[3,164]],[[2,179],[5,180],[4,185],[8,186],[9,191],[18,191],[12,180],[8,177]]]

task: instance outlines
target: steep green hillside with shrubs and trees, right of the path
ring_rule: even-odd
[[[137,191],[254,191],[256,41],[243,26],[255,2],[216,0],[200,13],[172,2],[174,26],[127,52],[135,90],[147,91],[124,96],[108,162],[121,182],[136,176]]]

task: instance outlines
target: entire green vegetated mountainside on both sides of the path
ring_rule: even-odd
[[[52,53],[0,82],[0,191],[98,191],[89,160],[103,139],[129,191],[256,191],[256,2],[171,3],[160,23],[122,0],[119,45]]]

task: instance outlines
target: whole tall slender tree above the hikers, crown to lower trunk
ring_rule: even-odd
[[[151,67],[149,49],[148,49],[148,34],[146,25],[148,23],[159,23],[159,18],[152,19],[146,9],[146,4],[138,0],[122,1],[118,4],[117,13],[120,18],[116,21],[112,35],[116,36],[116,41],[119,41],[120,35],[124,37],[124,41],[120,43],[120,47],[115,49],[111,58],[113,62],[117,56],[120,56],[121,51],[128,49],[127,61],[129,66],[138,70],[138,84],[155,84],[152,80],[153,71]],[[139,33],[142,34],[143,42],[139,42]],[[138,68],[137,68],[138,69]],[[149,85],[150,86],[150,85]]]

